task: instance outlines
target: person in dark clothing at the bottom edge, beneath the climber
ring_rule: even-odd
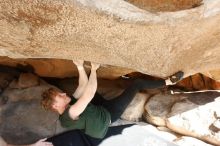
[[[68,132],[64,132],[50,138],[44,138],[38,140],[33,144],[28,145],[12,145],[4,141],[0,137],[0,146],[98,146],[104,140],[108,139],[111,136],[120,135],[122,131],[126,128],[129,128],[135,124],[119,125],[109,127],[109,130],[104,138],[93,138],[84,134],[82,131],[74,129]]]

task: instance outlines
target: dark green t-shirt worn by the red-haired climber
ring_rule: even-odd
[[[72,98],[70,105],[75,102],[76,99]],[[70,118],[69,109],[70,106],[59,117],[64,128],[81,129],[85,134],[95,138],[103,138],[105,136],[111,118],[110,113],[104,107],[89,104],[77,120]]]

